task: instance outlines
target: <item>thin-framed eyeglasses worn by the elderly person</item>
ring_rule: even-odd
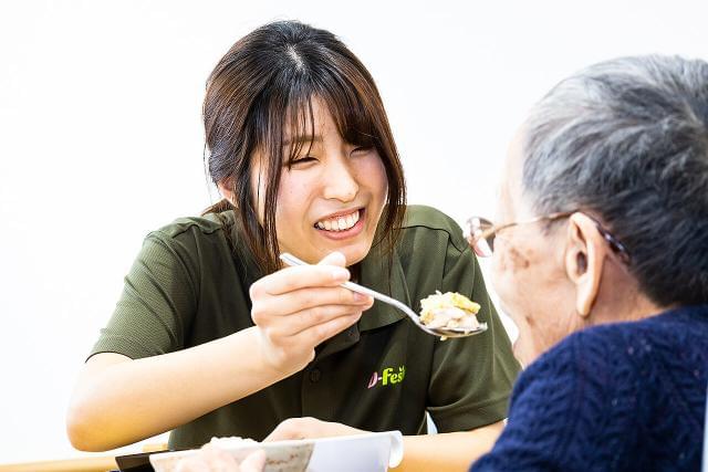
[[[571,214],[576,213],[579,211],[581,210],[562,211],[558,213],[551,213],[545,217],[538,217],[538,218],[533,218],[531,220],[525,220],[525,221],[514,221],[511,223],[506,223],[500,225],[496,225],[491,221],[481,217],[472,217],[469,220],[467,220],[467,230],[468,230],[467,241],[469,242],[470,248],[472,248],[472,250],[477,255],[479,255],[480,258],[489,258],[494,251],[494,238],[497,237],[499,231],[506,230],[507,228],[516,227],[519,224],[538,223],[541,221],[551,222],[551,221],[560,220],[563,218],[568,218]],[[600,234],[602,234],[605,241],[607,241],[607,243],[610,244],[610,248],[612,248],[612,250],[617,254],[617,256],[620,256],[622,262],[628,265],[631,259],[629,259],[629,252],[627,251],[625,245],[621,243],[617,238],[612,235],[610,231],[604,229],[600,223],[600,221],[597,221],[595,218],[589,216],[585,212],[583,212],[583,214],[585,214],[587,218],[593,220],[593,222],[595,223],[595,227],[597,228],[597,231],[600,232]]]

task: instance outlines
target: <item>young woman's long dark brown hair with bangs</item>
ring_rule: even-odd
[[[267,24],[237,41],[219,61],[204,101],[209,175],[233,192],[236,204],[220,201],[205,212],[235,210],[266,273],[280,266],[275,207],[282,167],[306,145],[292,146],[284,156],[284,135],[290,129],[311,141],[315,97],[326,104],[342,138],[374,147],[386,169],[387,206],[374,244],[385,242],[391,251],[404,219],[403,167],[378,90],[364,64],[329,31],[296,21]],[[251,185],[257,149],[264,157],[268,179],[262,225]]]

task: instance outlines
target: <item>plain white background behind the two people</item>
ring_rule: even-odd
[[[491,213],[524,112],[617,55],[708,57],[705,2],[3,1],[0,463],[76,454],[64,411],[143,237],[217,195],[205,80],[278,19],[339,34],[376,78],[409,201]]]

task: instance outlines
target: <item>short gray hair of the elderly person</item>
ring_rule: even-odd
[[[523,156],[535,212],[589,211],[650,300],[708,302],[708,63],[624,57],[574,74],[531,111]]]

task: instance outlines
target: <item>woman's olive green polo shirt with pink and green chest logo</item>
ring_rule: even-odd
[[[253,326],[249,286],[262,274],[239,228],[233,212],[225,212],[149,233],[92,355],[155,356]],[[462,293],[481,305],[478,317],[489,329],[440,340],[375,302],[355,326],[320,345],[303,370],[175,429],[170,447],[196,447],[215,436],[262,440],[282,420],[304,416],[404,434],[426,431],[426,411],[440,432],[506,418],[519,365],[477,260],[451,219],[408,207],[393,259],[372,249],[360,283],[415,311],[436,290]]]

